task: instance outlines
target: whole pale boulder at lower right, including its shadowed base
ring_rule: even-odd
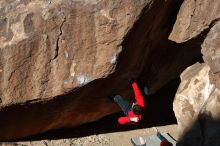
[[[219,145],[220,90],[212,84],[210,67],[195,64],[181,74],[173,103],[178,121],[178,145]]]

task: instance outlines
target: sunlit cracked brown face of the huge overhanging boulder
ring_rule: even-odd
[[[146,4],[2,1],[1,104],[54,97],[111,74]]]

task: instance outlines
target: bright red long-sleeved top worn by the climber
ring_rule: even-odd
[[[135,104],[137,104],[137,105],[139,105],[139,106],[144,108],[145,107],[145,105],[144,105],[144,97],[141,95],[141,91],[138,88],[138,85],[137,85],[136,82],[132,83],[132,88],[133,88],[134,95],[135,95],[135,100],[136,100]],[[133,111],[129,111],[128,112],[128,116],[120,117],[118,119],[118,123],[122,124],[122,125],[124,125],[124,124],[134,124],[135,122],[131,122],[130,121],[130,118],[134,118],[134,117],[138,117],[139,120],[141,120],[143,115],[135,115],[133,113]]]

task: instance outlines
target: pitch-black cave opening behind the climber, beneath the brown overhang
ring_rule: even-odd
[[[83,124],[79,127],[51,130],[43,134],[19,139],[19,141],[78,138],[94,134],[129,131],[153,126],[176,124],[172,104],[179,83],[179,78],[173,79],[164,87],[159,89],[155,94],[145,96],[147,106],[145,116],[137,125],[119,125],[117,123],[117,118],[122,116],[123,113],[117,112],[105,116],[98,121]]]

